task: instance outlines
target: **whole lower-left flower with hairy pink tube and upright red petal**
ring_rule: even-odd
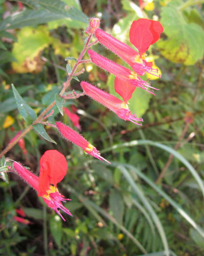
[[[38,196],[41,196],[44,202],[60,215],[64,221],[65,219],[60,213],[60,210],[72,216],[69,210],[62,204],[62,202],[70,199],[65,199],[56,187],[56,184],[64,178],[67,172],[67,161],[60,152],[57,150],[48,150],[44,153],[40,158],[39,177],[18,162],[14,162],[13,167],[15,173],[33,187],[38,192]]]

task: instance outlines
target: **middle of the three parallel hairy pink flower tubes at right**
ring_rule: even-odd
[[[92,50],[88,50],[87,52],[92,62],[94,62],[98,67],[114,74],[119,79],[125,80],[136,87],[141,87],[142,89],[148,91],[153,95],[155,94],[152,91],[148,90],[148,88],[158,90],[150,86],[150,83],[148,83],[147,81],[143,81],[135,72],[131,71],[130,69],[127,69]]]

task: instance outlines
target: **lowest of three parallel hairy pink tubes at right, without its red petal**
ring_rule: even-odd
[[[141,124],[138,124],[134,121],[143,122],[142,118],[137,118],[135,114],[134,115],[131,114],[128,108],[128,105],[124,101],[119,100],[115,96],[108,94],[105,91],[97,88],[96,86],[91,85],[84,81],[81,82],[81,87],[85,91],[86,95],[98,101],[102,105],[106,106],[106,108],[108,108],[109,110],[112,110],[113,112],[115,112],[116,115],[118,115],[121,119],[126,121],[131,121],[136,125],[141,125]]]

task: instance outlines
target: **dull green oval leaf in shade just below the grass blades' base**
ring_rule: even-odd
[[[113,213],[116,221],[122,225],[124,201],[118,190],[112,189],[109,195],[109,211]]]

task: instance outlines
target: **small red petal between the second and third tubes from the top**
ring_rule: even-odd
[[[125,103],[132,98],[135,88],[136,87],[129,82],[123,81],[118,77],[115,78],[115,91],[123,98]]]

